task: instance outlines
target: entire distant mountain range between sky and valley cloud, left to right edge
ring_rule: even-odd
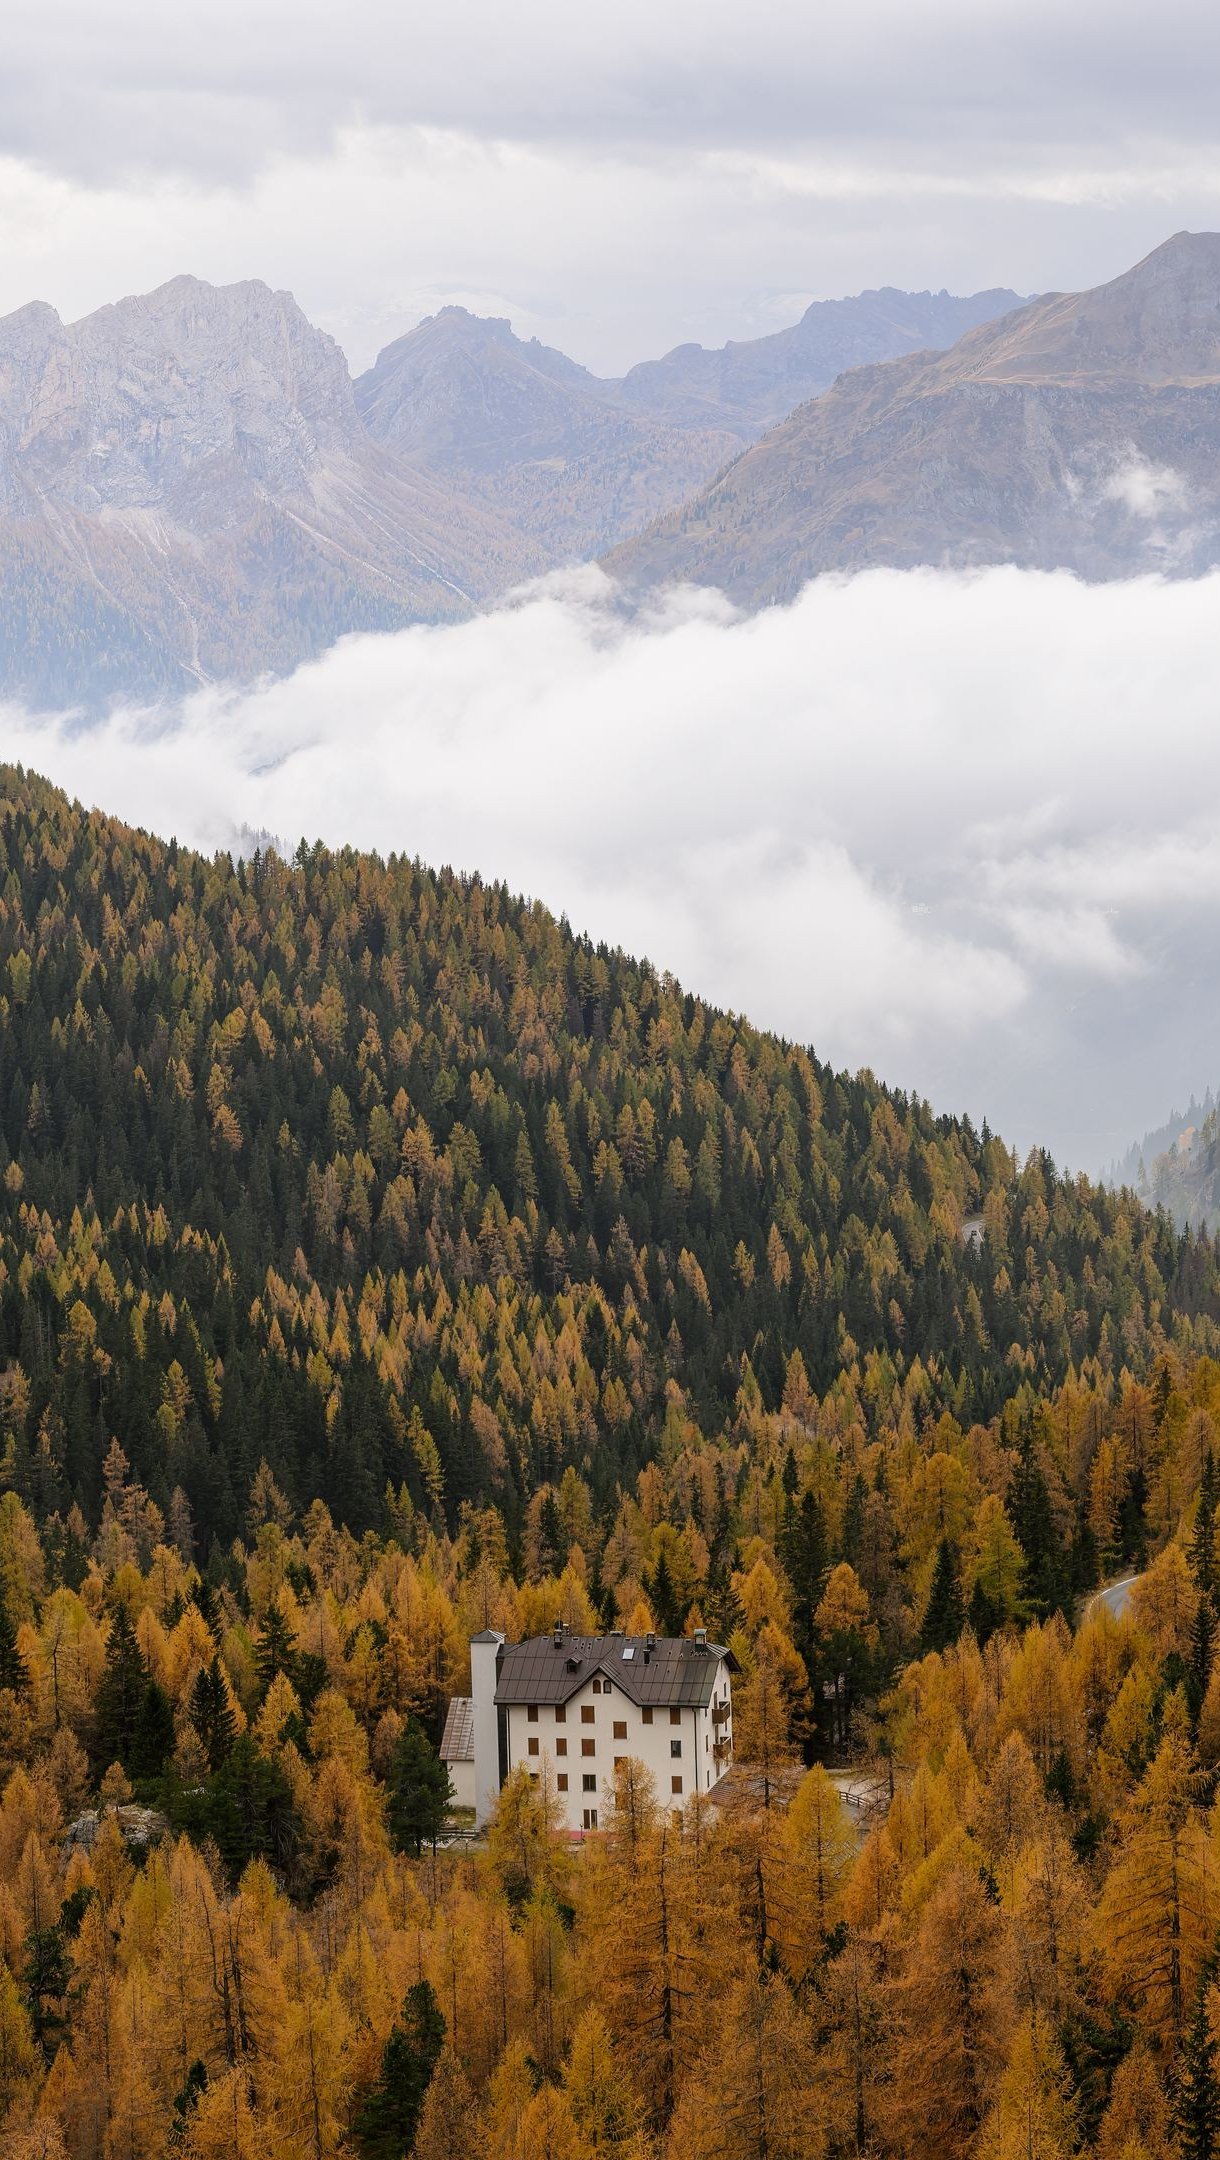
[[[1084,294],[816,302],[615,380],[447,307],[352,382],[257,281],[0,322],[0,693],[289,672],[592,557],[743,607],[868,566],[1209,568],[1220,235]]]

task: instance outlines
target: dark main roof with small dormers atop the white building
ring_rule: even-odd
[[[719,1661],[736,1668],[732,1650],[646,1635],[536,1635],[501,1650],[497,1702],[568,1702],[594,1674],[622,1687],[631,1702],[700,1709],[710,1702]]]

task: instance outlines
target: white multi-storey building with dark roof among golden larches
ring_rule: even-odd
[[[633,1756],[674,1808],[708,1793],[732,1763],[732,1650],[693,1637],[551,1635],[471,1644],[475,1823],[510,1771],[546,1767],[568,1830],[605,1821],[615,1767]]]

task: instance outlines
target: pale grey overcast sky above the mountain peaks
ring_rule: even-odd
[[[594,367],[864,285],[1073,287],[1220,225],[1205,0],[39,0],[0,307],[287,285],[356,365],[445,300]]]

